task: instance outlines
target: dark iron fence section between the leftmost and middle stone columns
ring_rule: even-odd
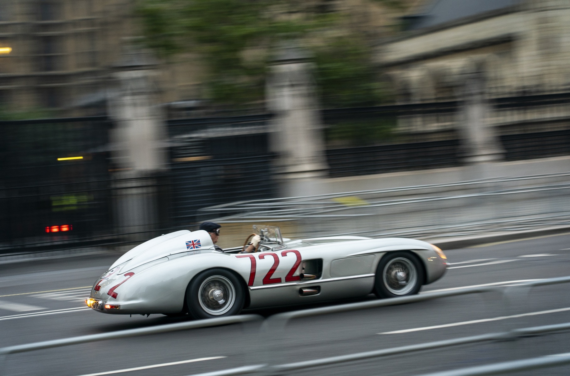
[[[168,122],[173,221],[189,225],[210,205],[275,196],[271,114]]]

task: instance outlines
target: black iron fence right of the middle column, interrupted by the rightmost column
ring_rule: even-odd
[[[504,159],[570,155],[568,104],[570,93],[491,98],[487,121],[496,127]],[[327,133],[344,125],[344,138],[365,145],[335,147],[332,142],[327,150],[329,176],[461,165],[461,106],[461,101],[446,101],[323,110]],[[392,132],[378,137],[377,127],[385,123],[393,123]]]

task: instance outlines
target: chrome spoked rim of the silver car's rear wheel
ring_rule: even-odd
[[[235,302],[234,285],[221,275],[206,278],[198,294],[202,309],[214,316],[223,315],[233,307]]]

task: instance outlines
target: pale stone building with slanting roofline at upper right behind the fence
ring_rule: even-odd
[[[474,74],[487,100],[570,91],[566,0],[437,0],[405,20],[408,30],[382,43],[376,55],[398,103],[462,101]],[[535,131],[566,129],[568,119],[565,104],[486,115],[500,133],[523,124]],[[458,114],[410,115],[398,125],[404,132],[430,132],[457,129],[458,122]]]

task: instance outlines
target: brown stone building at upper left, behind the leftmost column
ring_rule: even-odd
[[[125,45],[140,35],[132,0],[0,0],[0,102],[9,110],[88,114],[104,101]],[[162,102],[200,95],[193,56],[161,64]],[[104,110],[104,105],[100,107]],[[87,112],[86,112],[87,111]]]

